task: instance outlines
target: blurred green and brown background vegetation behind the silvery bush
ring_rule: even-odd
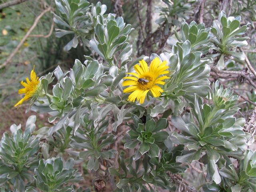
[[[0,3],[5,2],[8,2],[8,0],[0,0]],[[89,2],[96,4],[98,0],[89,0]],[[195,11],[198,8],[198,2],[200,2],[200,0],[174,0],[170,1],[172,4],[169,5],[164,3],[166,2],[165,0],[151,0],[152,26],[146,26],[148,0],[100,0],[100,2],[106,4],[106,13],[122,15],[124,22],[132,24],[134,30],[130,34],[128,41],[133,45],[132,56],[135,59],[142,53],[147,55],[151,52],[162,52],[162,47],[159,45],[160,40],[158,42],[157,38],[156,41],[151,42],[152,45],[148,49],[150,53],[145,51],[145,48],[142,47],[143,42],[141,42],[142,36],[146,35],[145,32],[156,32],[156,37],[158,36],[158,30],[159,32],[162,30],[160,29],[161,20],[159,19],[161,16],[167,17],[168,22],[170,22],[168,29],[165,28],[164,30],[167,29],[170,30],[170,32],[172,32],[173,29],[179,30],[178,27],[182,23],[182,19],[185,19],[188,23],[195,20]],[[179,4],[182,4],[182,9]],[[222,0],[206,0],[204,6],[204,23],[206,27],[212,24],[211,14],[218,16],[221,4]],[[247,22],[251,23],[250,29],[246,34],[246,36],[250,37],[249,45],[245,47],[244,51],[254,67],[256,65],[255,5],[255,0],[236,0],[233,1],[232,7],[228,8],[231,16],[242,16],[243,24]],[[42,13],[47,6],[51,6],[54,9],[54,1],[27,0],[21,4],[0,10],[1,64],[6,61],[8,56],[30,29],[35,18]],[[138,14],[140,14],[140,18]],[[172,28],[172,26],[175,28]],[[51,30],[52,27],[53,31]],[[150,31],[147,30],[149,27],[151,28]],[[20,100],[20,96],[18,95],[18,89],[21,87],[20,81],[25,80],[25,78],[29,76],[33,66],[35,66],[36,74],[42,76],[54,70],[58,65],[63,69],[69,69],[73,66],[76,58],[80,61],[84,61],[84,55],[90,54],[90,51],[80,44],[78,44],[76,48],[70,49],[68,52],[64,51],[63,48],[72,39],[72,34],[57,38],[55,36],[55,28],[56,24],[53,22],[53,14],[47,12],[40,18],[38,24],[12,58],[11,62],[0,69],[1,136],[2,132],[7,130],[10,124],[25,122],[28,116],[34,114],[33,112],[25,114],[26,106],[20,107],[19,110],[13,108],[14,104]],[[38,37],[39,34],[43,36],[48,35],[48,37]],[[141,49],[142,51],[140,51]],[[241,70],[244,68],[244,63],[230,60],[227,67],[229,70]],[[256,102],[255,90],[250,90],[242,85],[239,87],[238,92],[248,97],[251,101]],[[242,111],[249,110],[248,115],[250,115],[250,110],[252,110],[253,106],[244,104],[241,107]],[[46,117],[44,115],[37,116],[39,116],[38,126],[45,126]]]

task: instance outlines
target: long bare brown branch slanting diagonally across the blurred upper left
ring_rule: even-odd
[[[8,57],[8,59],[6,60],[6,62],[4,62],[2,65],[0,65],[0,69],[5,67],[14,57],[14,55],[18,52],[18,50],[21,48],[21,46],[23,45],[23,43],[25,42],[25,40],[28,38],[28,36],[30,35],[30,33],[32,32],[32,30],[36,27],[36,25],[38,24],[40,18],[46,13],[49,12],[51,10],[51,7],[48,7],[47,9],[45,9],[42,13],[40,13],[40,15],[38,15],[38,17],[35,19],[34,24],[30,27],[30,29],[28,30],[28,32],[26,33],[26,35],[23,37],[23,39],[20,41],[20,43],[18,44],[18,46],[15,48],[15,50],[12,52],[12,54]]]

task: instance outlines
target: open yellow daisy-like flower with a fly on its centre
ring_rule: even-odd
[[[128,73],[132,76],[124,77],[124,79],[129,80],[122,83],[122,86],[130,86],[124,89],[124,93],[132,92],[128,96],[128,100],[134,102],[137,99],[142,104],[149,91],[154,97],[159,97],[163,90],[156,84],[165,84],[162,80],[168,79],[169,77],[161,75],[168,74],[169,71],[166,70],[168,68],[166,61],[161,63],[157,57],[152,60],[149,68],[148,64],[144,60],[141,60],[140,65],[136,64],[134,66],[137,73]]]

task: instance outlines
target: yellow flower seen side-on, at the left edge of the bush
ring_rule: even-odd
[[[25,96],[18,103],[16,103],[14,107],[22,104],[24,101],[28,100],[29,98],[31,98],[36,94],[40,80],[39,80],[39,77],[36,77],[36,73],[34,72],[34,69],[30,73],[30,80],[27,77],[26,82],[27,83],[25,83],[24,81],[20,82],[20,84],[22,84],[22,86],[24,86],[25,88],[20,89],[18,91],[18,94],[25,94]]]

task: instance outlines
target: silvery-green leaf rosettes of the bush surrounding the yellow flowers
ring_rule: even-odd
[[[78,164],[95,173],[95,191],[106,190],[104,185],[99,189],[99,180],[116,192],[179,191],[173,175],[185,175],[192,162],[200,162],[203,170],[200,186],[190,190],[256,190],[256,152],[248,148],[253,136],[244,130],[246,119],[237,116],[239,96],[210,78],[212,67],[234,68],[230,63],[247,58],[238,48],[248,45],[244,35],[250,23],[242,22],[244,14],[228,16],[222,10],[206,26],[191,20],[196,2],[163,2],[156,23],[166,38],[165,49],[155,44],[151,49],[156,53],[134,58],[134,28],[122,16],[106,14],[100,2],[55,0],[56,37],[71,38],[63,49],[82,45],[88,54],[70,70],[57,66],[41,76],[30,95],[28,110],[49,114],[52,126],[37,130],[36,117],[30,116],[23,130],[14,124],[11,134],[4,133],[2,192],[89,192],[92,186],[77,185],[84,180]],[[157,38],[152,33],[145,39],[152,37]],[[158,60],[159,68],[168,68],[160,76],[168,78],[160,83],[159,97],[151,90],[144,102],[140,95],[131,102],[124,78],[137,72],[138,87],[152,80],[138,72],[147,70],[141,62],[138,69],[141,60]]]

